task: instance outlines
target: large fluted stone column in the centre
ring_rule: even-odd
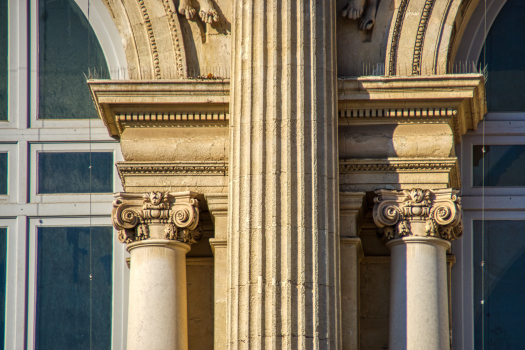
[[[339,349],[334,0],[233,2],[232,349]]]

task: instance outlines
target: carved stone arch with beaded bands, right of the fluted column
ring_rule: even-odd
[[[495,18],[505,0],[489,2]],[[385,57],[387,75],[453,73],[459,43],[471,31],[469,23],[475,22],[471,17],[478,15],[478,3],[480,0],[395,1]]]

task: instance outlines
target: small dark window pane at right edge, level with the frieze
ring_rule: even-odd
[[[473,186],[525,186],[525,145],[473,146]]]

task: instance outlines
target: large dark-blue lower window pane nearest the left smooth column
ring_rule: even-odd
[[[112,234],[38,228],[37,349],[111,348]]]

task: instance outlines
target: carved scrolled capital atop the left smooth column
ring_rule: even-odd
[[[200,240],[199,201],[193,192],[116,193],[113,226],[121,243],[148,238],[193,244]]]

